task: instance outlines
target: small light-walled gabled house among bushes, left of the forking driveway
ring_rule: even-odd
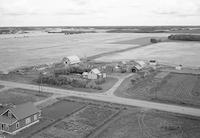
[[[92,69],[89,73],[88,73],[88,79],[99,79],[99,78],[106,78],[106,74],[105,73],[101,73],[97,68]]]

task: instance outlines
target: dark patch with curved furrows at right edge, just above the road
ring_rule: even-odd
[[[156,98],[177,104],[200,107],[200,76],[170,73],[166,80],[157,86]]]

